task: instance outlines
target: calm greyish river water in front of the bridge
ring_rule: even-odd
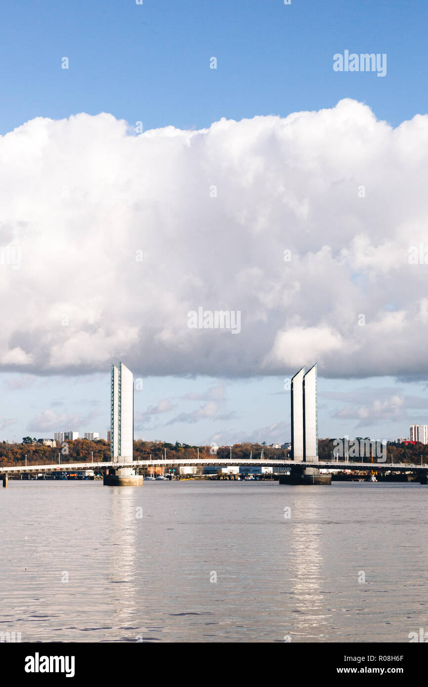
[[[427,489],[10,482],[0,631],[23,642],[408,642],[428,625]]]

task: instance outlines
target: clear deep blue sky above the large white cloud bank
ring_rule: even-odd
[[[82,111],[202,128],[347,97],[396,126],[427,111],[427,23],[423,0],[6,0],[0,131]],[[387,76],[335,73],[344,49],[386,53]]]

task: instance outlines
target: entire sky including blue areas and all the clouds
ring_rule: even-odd
[[[288,441],[315,362],[320,437],[428,423],[425,2],[0,17],[0,440],[105,437],[117,359],[146,440]]]

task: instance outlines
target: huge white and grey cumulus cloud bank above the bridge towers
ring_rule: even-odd
[[[394,129],[353,100],[138,136],[27,122],[0,137],[1,369],[420,374],[427,144],[427,115]],[[188,328],[199,307],[240,333]]]

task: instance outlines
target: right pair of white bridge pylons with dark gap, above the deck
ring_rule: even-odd
[[[291,379],[291,451],[293,460],[318,460],[317,365]]]

